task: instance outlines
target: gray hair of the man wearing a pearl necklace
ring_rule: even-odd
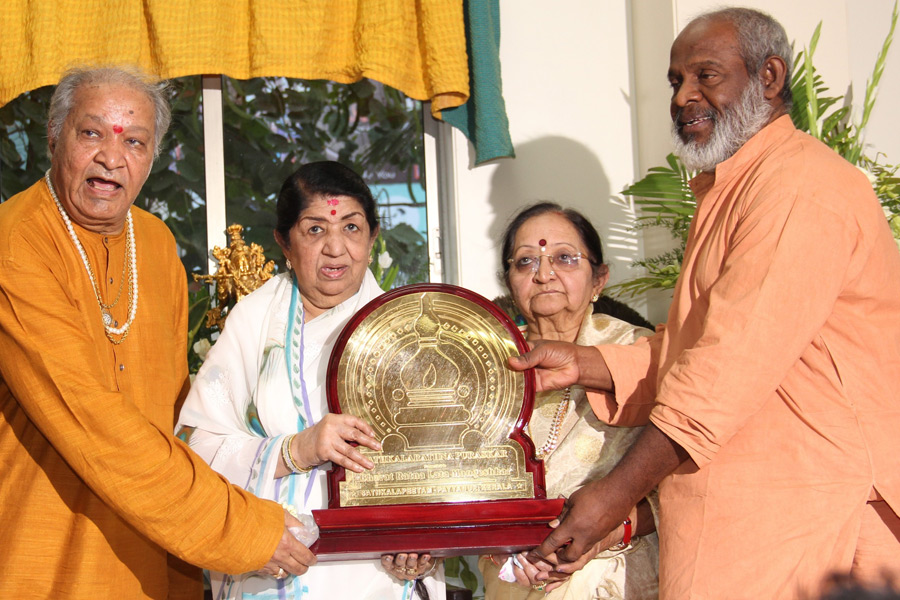
[[[59,139],[63,125],[75,106],[75,93],[84,85],[123,85],[142,92],[153,103],[155,113],[153,156],[159,156],[160,143],[172,121],[172,109],[166,97],[168,84],[159,81],[137,67],[73,67],[63,74],[50,98],[48,135],[50,142]]]

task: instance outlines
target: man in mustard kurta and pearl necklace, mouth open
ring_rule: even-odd
[[[76,70],[47,176],[0,205],[0,596],[202,597],[199,570],[303,573],[274,502],[172,436],[187,290],[171,233],[132,206],[168,127],[136,71]]]

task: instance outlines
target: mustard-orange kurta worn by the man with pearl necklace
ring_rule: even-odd
[[[277,504],[231,486],[171,435],[187,379],[184,271],[165,226],[132,213],[138,310],[113,345],[46,185],[0,205],[4,597],[164,598],[167,550],[244,572],[282,535]],[[124,233],[76,230],[115,297]],[[127,303],[123,292],[116,319]]]

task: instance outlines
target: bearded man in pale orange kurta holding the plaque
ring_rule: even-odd
[[[659,484],[663,599],[810,598],[831,573],[900,572],[900,253],[865,176],[794,128],[790,58],[756,11],[685,28],[669,81],[698,204],[665,327],[511,360],[650,423],[533,560],[569,541],[574,560]]]

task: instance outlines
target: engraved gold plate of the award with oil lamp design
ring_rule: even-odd
[[[534,498],[522,446],[509,439],[525,379],[497,317],[466,298],[424,291],[375,309],[340,358],[341,410],[375,428],[360,446],[375,468],[345,472],[341,506]]]

